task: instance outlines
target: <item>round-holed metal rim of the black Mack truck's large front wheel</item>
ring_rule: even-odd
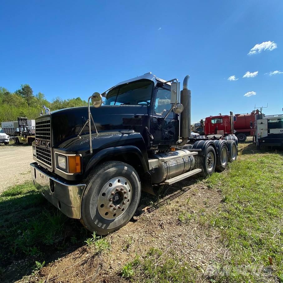
[[[132,186],[129,180],[122,176],[112,178],[99,193],[98,212],[105,219],[116,219],[127,210],[131,199]]]

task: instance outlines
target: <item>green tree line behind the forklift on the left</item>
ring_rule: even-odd
[[[43,105],[53,111],[86,106],[88,103],[80,97],[63,100],[59,96],[50,102],[41,92],[34,95],[32,88],[28,84],[22,84],[21,88],[14,92],[0,87],[0,122],[16,121],[17,117],[35,119],[41,113]]]

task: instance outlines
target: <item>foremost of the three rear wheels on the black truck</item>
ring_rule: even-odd
[[[195,155],[195,168],[201,169],[204,177],[212,175],[216,166],[216,153],[213,146],[208,146],[205,155]]]

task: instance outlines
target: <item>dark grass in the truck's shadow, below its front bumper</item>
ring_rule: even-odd
[[[0,214],[0,268],[4,270],[22,258],[29,258],[32,268],[35,260],[43,262],[46,256],[83,242],[86,236],[78,221],[49,204],[31,182],[8,188],[0,195]]]

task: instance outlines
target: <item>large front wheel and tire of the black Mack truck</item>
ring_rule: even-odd
[[[141,197],[141,181],[131,165],[104,162],[89,174],[86,184],[81,222],[89,231],[107,235],[129,222]]]

